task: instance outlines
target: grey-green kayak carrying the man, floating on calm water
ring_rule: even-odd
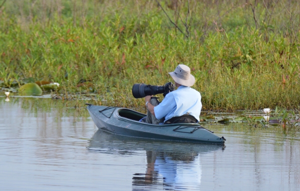
[[[87,110],[99,129],[130,137],[223,144],[225,139],[199,124],[153,125],[139,122],[144,114],[126,108],[88,105]]]

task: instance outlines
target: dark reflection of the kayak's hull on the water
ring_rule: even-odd
[[[196,156],[199,153],[209,153],[216,150],[223,150],[222,145],[208,145],[190,142],[172,142],[166,140],[150,140],[136,137],[128,137],[112,134],[98,130],[90,139],[89,151],[106,154],[128,154],[134,151],[162,152],[168,156],[174,156],[177,160],[185,161],[187,156]]]

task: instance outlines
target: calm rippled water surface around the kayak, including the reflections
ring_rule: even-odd
[[[129,138],[74,105],[0,98],[0,191],[300,190],[299,134],[230,123],[204,126],[225,146]]]

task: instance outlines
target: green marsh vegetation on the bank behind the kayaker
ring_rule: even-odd
[[[138,107],[134,83],[164,84],[185,63],[203,109],[298,105],[297,1],[158,1],[188,35],[156,1],[6,1],[1,88],[32,78],[58,82],[64,93],[99,94],[97,104]]]

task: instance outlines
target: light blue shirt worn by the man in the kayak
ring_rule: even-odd
[[[181,85],[177,90],[166,94],[162,102],[154,107],[154,114],[157,119],[165,117],[164,121],[184,114],[189,114],[199,121],[201,108],[200,93]]]

